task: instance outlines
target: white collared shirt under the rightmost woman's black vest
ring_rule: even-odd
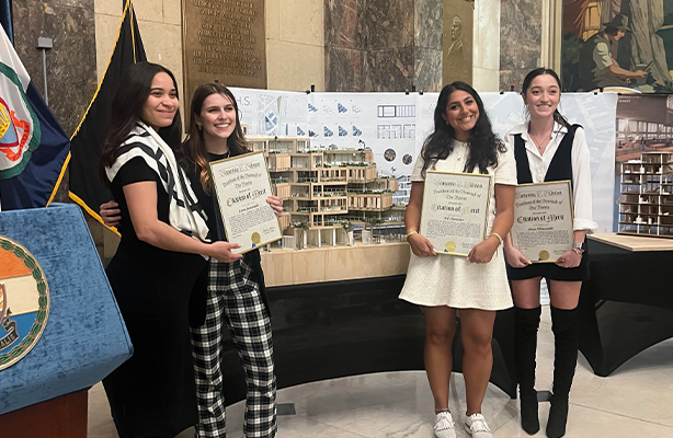
[[[540,155],[537,147],[528,136],[528,122],[515,126],[505,135],[505,143],[507,148],[514,150],[514,136],[521,134],[521,138],[526,145],[526,154],[528,155],[528,165],[531,166],[531,175],[534,183],[543,183],[545,175],[551,164],[554,154],[559,148],[561,140],[568,132],[568,128],[554,123],[554,132],[551,141],[547,145],[544,154]],[[598,228],[598,224],[593,221],[592,215],[592,198],[591,198],[591,169],[589,146],[586,146],[586,137],[584,129],[578,128],[574,131],[574,140],[572,141],[572,151],[570,155],[572,165],[572,198],[574,203],[574,220],[573,230],[586,230],[593,232]]]

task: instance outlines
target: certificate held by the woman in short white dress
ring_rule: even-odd
[[[437,254],[466,256],[486,238],[491,176],[427,171],[421,230]]]

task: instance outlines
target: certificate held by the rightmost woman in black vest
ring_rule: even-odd
[[[554,263],[572,247],[570,181],[516,187],[512,245],[533,263]]]

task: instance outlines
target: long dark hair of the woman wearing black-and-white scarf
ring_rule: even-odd
[[[99,164],[99,177],[109,185],[105,174],[105,166],[111,166],[117,159],[117,149],[126,140],[128,134],[140,120],[142,107],[152,88],[152,80],[158,73],[164,72],[173,81],[173,87],[178,90],[178,83],[173,73],[163,66],[152,62],[137,62],[128,67],[122,77],[122,82],[117,89],[110,110],[110,119],[105,141],[101,151]],[[182,119],[180,110],[175,112],[173,122],[170,126],[159,129],[157,132],[175,152],[175,158],[182,162],[180,142],[182,140]]]

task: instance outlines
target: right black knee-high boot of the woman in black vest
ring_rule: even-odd
[[[566,435],[568,420],[568,394],[578,364],[578,308],[562,310],[551,307],[551,331],[554,332],[554,390],[547,437],[560,438]]]

